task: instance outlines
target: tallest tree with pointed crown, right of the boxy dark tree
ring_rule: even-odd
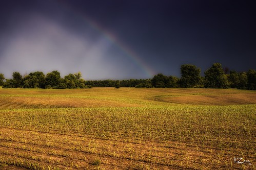
[[[206,88],[227,88],[228,81],[220,63],[214,63],[205,71]]]

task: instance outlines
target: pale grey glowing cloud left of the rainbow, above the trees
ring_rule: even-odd
[[[13,71],[24,74],[58,70],[62,76],[81,71],[85,79],[122,79],[130,74],[136,77],[135,72],[141,72],[103,34],[99,32],[94,39],[90,38],[90,32],[84,33],[87,34],[83,37],[34,14],[16,25],[14,36],[6,37],[9,43],[1,54],[0,71],[8,78]]]

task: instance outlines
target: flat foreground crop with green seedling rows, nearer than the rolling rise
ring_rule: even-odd
[[[0,158],[39,169],[241,168],[234,156],[256,155],[255,113],[254,105],[2,109]]]

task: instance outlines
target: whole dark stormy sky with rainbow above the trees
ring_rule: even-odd
[[[82,72],[85,80],[180,77],[219,62],[256,69],[253,1],[1,1],[0,73]]]

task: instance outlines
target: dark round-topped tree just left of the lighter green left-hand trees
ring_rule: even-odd
[[[45,84],[49,88],[57,88],[58,84],[61,82],[61,74],[57,70],[49,72],[45,77]]]

